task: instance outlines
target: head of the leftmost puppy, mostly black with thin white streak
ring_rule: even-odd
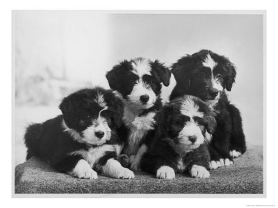
[[[76,141],[101,145],[111,139],[111,131],[120,126],[124,107],[110,90],[96,87],[81,89],[60,103],[64,128]]]

